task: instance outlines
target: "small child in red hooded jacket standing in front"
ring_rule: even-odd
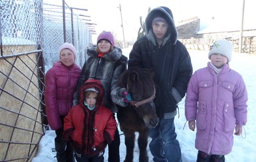
[[[114,140],[116,120],[102,105],[104,90],[96,79],[80,87],[79,104],[64,118],[64,139],[74,147],[76,161],[104,161],[104,149]]]

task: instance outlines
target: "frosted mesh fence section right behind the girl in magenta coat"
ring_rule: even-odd
[[[66,7],[64,11],[63,21],[62,6],[43,4],[43,49],[46,71],[59,60],[58,48],[64,42],[74,44],[77,51],[76,63],[82,66],[86,59],[86,48],[92,40],[86,23],[73,13],[73,9]]]

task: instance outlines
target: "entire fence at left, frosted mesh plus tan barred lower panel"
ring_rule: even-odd
[[[48,126],[45,72],[64,42],[82,65],[90,31],[72,9],[43,0],[1,0],[0,9],[0,161],[31,161]]]

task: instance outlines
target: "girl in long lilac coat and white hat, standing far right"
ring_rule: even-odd
[[[234,130],[241,135],[247,122],[247,90],[241,75],[229,67],[232,52],[231,42],[217,40],[209,50],[211,61],[193,73],[188,85],[185,115],[190,130],[197,128],[197,161],[225,161]]]

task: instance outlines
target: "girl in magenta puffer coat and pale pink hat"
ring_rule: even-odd
[[[60,61],[55,62],[45,75],[45,107],[49,125],[56,133],[57,161],[74,162],[74,149],[63,139],[63,120],[72,108],[81,68],[74,63],[76,49],[72,44],[62,44],[59,56]]]

